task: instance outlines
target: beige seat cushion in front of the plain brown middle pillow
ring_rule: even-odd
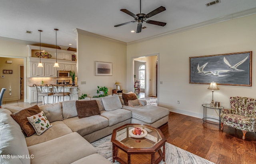
[[[81,136],[90,134],[94,131],[108,127],[108,119],[100,115],[78,118],[72,117],[63,120],[73,132],[79,133]]]

